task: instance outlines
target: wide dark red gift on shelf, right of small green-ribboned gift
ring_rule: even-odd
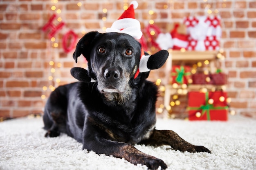
[[[225,85],[227,84],[227,74],[203,74],[197,73],[192,75],[193,84],[196,85]]]

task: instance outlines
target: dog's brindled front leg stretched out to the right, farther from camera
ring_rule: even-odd
[[[186,142],[182,139],[177,133],[169,130],[154,130],[149,139],[141,141],[140,144],[149,144],[149,145],[170,145],[175,150],[180,150],[182,152],[188,151],[191,153],[196,152],[207,152],[211,151],[204,146],[195,146]]]

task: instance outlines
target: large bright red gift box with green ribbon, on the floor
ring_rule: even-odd
[[[189,120],[228,120],[227,92],[189,92]]]

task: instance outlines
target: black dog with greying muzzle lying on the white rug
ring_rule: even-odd
[[[124,158],[150,169],[167,166],[132,145],[170,145],[182,152],[211,153],[203,146],[186,142],[173,131],[155,129],[157,87],[146,81],[149,72],[141,72],[135,78],[141,46],[133,37],[90,32],[78,42],[74,59],[77,61],[81,54],[88,61],[88,72],[73,68],[72,75],[87,83],[60,86],[52,92],[43,116],[46,137],[67,133],[81,142],[83,149]],[[162,56],[159,60],[163,61],[157,62],[157,56]],[[161,67],[167,57],[166,50],[150,56],[148,68]],[[95,82],[88,82],[91,79]]]

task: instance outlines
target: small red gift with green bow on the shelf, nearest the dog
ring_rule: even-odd
[[[191,69],[189,66],[173,65],[171,76],[172,83],[187,85],[189,83],[189,80],[191,79]]]

